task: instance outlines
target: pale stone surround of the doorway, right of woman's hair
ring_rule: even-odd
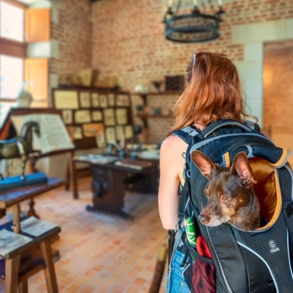
[[[248,113],[262,126],[263,120],[263,43],[293,39],[293,19],[235,25],[232,43],[244,44],[244,60],[235,62],[244,92]]]

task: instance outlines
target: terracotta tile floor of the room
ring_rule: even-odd
[[[61,259],[55,263],[60,292],[148,292],[159,248],[167,239],[161,226],[156,194],[127,194],[127,221],[85,210],[91,203],[90,179],[79,181],[80,199],[59,188],[35,198],[43,220],[61,226],[53,244]],[[22,205],[21,209],[27,209]],[[165,292],[166,270],[160,293]],[[43,271],[29,278],[30,293],[47,292]],[[0,292],[3,287],[0,287]]]

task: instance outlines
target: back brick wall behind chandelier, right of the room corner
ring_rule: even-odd
[[[231,42],[233,25],[293,17],[293,0],[228,0],[218,40],[180,44],[168,42],[164,37],[163,6],[162,0],[107,0],[92,5],[92,65],[102,77],[117,75],[123,88],[130,91],[140,82],[153,89],[150,81],[163,80],[165,75],[185,74],[194,51],[221,52],[232,61],[242,61],[243,45]],[[168,97],[167,102],[164,98],[149,97],[149,105],[156,101],[156,105],[172,107],[177,98]],[[133,103],[141,102],[133,97]],[[149,141],[162,140],[171,123],[170,119],[150,119]]]

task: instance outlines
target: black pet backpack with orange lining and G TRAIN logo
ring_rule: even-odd
[[[193,214],[196,235],[204,238],[211,255],[211,259],[201,256],[188,244],[186,233],[180,228],[176,231],[174,250],[180,237],[186,253],[184,278],[190,291],[293,292],[293,172],[287,163],[289,152],[274,146],[260,133],[259,126],[249,121],[220,120],[200,132],[187,126],[173,134],[188,143],[178,224]],[[202,151],[222,167],[230,167],[237,153],[246,152],[257,180],[254,190],[260,216],[267,221],[265,226],[245,232],[229,224],[208,227],[198,221],[207,203],[208,180],[193,164],[192,150]]]

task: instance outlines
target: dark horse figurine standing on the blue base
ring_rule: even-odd
[[[40,126],[37,122],[29,121],[21,127],[21,134],[13,139],[0,141],[0,161],[2,159],[14,159],[21,157],[21,180],[24,177],[24,167],[28,160],[28,156],[32,152],[40,152],[33,150],[33,132],[40,137]],[[0,181],[3,176],[0,173]]]

